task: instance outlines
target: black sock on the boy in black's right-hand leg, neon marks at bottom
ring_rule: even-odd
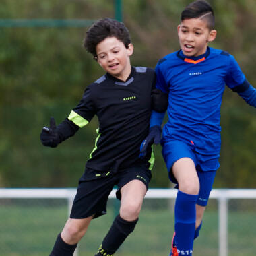
[[[106,234],[100,249],[98,250],[98,255],[111,256],[119,249],[120,245],[125,241],[125,238],[133,232],[135,225],[139,219],[128,222],[123,220],[120,215],[115,218],[108,234]],[[105,254],[106,253],[106,254]]]

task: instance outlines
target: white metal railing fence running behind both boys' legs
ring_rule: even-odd
[[[67,214],[71,209],[76,189],[0,189],[0,199],[67,199]],[[176,189],[149,189],[148,199],[174,199]],[[110,198],[115,197],[115,189]],[[213,189],[210,199],[218,201],[219,256],[228,256],[228,200],[256,199],[256,189]],[[78,253],[77,253],[78,254]]]

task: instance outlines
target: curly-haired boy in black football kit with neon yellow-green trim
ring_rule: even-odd
[[[86,33],[84,46],[106,74],[86,88],[67,119],[56,127],[51,117],[50,127],[43,127],[40,135],[44,146],[56,147],[87,125],[94,115],[98,117],[95,148],[79,179],[70,218],[50,256],[73,255],[92,218],[106,214],[108,195],[117,185],[119,214],[96,253],[113,255],[135,228],[154,164],[151,150],[146,158],[139,158],[152,110],[153,69],[131,67],[133,44],[129,31],[116,20],[104,18],[95,22]]]

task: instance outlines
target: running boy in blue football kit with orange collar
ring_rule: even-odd
[[[181,13],[181,49],[156,65],[154,111],[141,156],[161,132],[168,101],[168,122],[162,132],[162,155],[170,180],[179,189],[170,255],[193,253],[220,156],[220,106],[225,84],[256,107],[256,90],[226,51],[208,46],[216,38],[214,11],[206,1],[194,1]]]

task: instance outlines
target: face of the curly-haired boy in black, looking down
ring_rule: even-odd
[[[133,54],[133,44],[125,48],[125,44],[116,37],[107,37],[96,46],[97,61],[102,68],[125,81],[131,73],[130,56]]]

